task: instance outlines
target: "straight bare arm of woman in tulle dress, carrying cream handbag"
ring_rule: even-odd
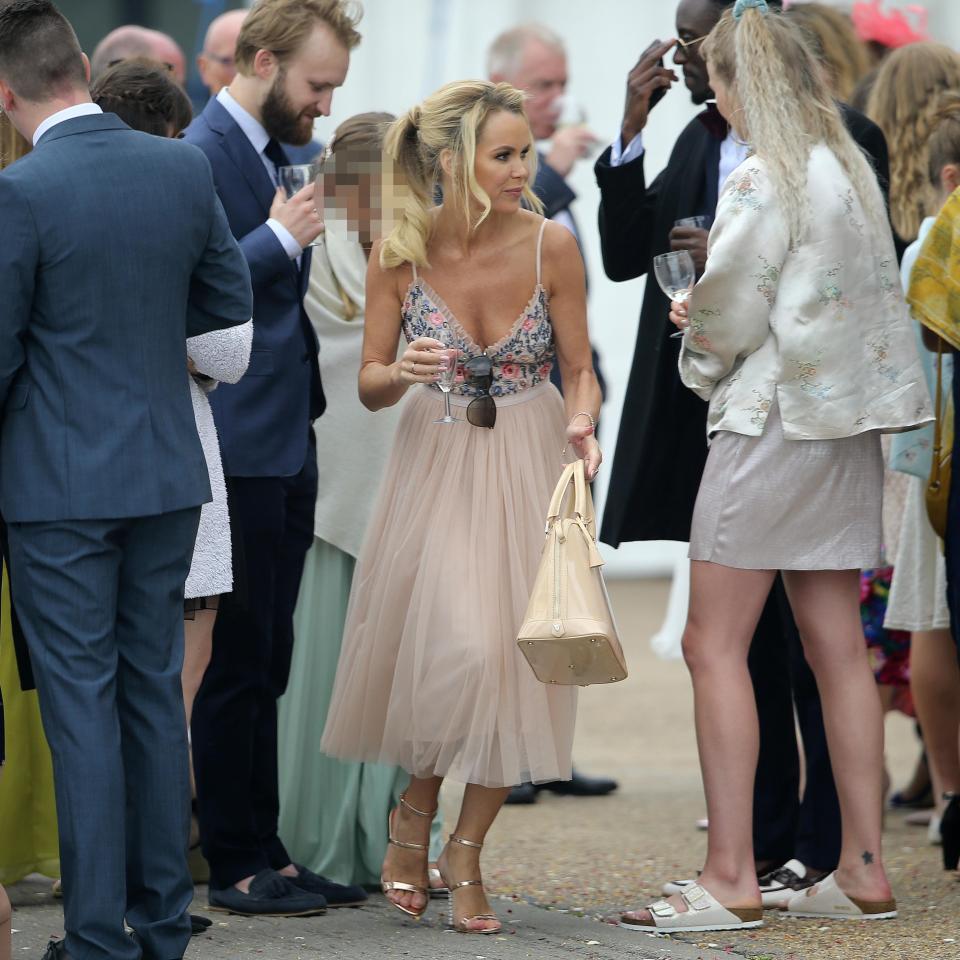
[[[559,224],[548,223],[544,231],[543,266],[563,381],[567,440],[585,461],[587,479],[592,480],[603,459],[593,427],[600,416],[600,384],[593,369],[587,331],[583,259],[573,235]]]

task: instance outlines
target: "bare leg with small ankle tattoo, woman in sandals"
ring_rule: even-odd
[[[783,579],[823,703],[843,825],[837,885],[861,900],[887,900],[880,849],[883,713],[860,621],[860,574],[793,570]]]

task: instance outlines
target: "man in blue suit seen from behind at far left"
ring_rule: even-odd
[[[0,512],[54,762],[48,956],[176,960],[183,584],[210,497],[185,340],[252,298],[203,154],[102,114],[88,77],[49,0],[0,0],[0,107],[34,144],[0,174]]]

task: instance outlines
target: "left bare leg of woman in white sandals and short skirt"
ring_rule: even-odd
[[[753,781],[759,730],[747,652],[775,572],[695,560],[683,653],[693,679],[700,769],[710,830],[700,883],[727,907],[757,907]],[[680,912],[680,897],[670,902]],[[627,916],[651,922],[646,910]]]

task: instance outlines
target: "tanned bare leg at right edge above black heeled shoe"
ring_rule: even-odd
[[[938,812],[943,792],[960,793],[960,667],[949,630],[923,630],[910,641],[910,689],[927,748]]]

